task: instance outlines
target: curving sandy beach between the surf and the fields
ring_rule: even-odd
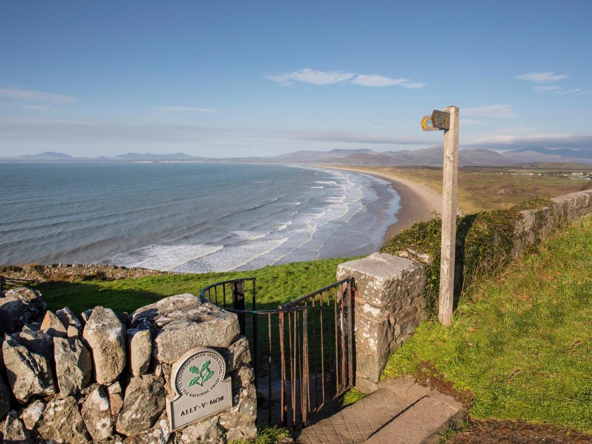
[[[404,230],[420,220],[429,220],[434,217],[433,211],[442,213],[442,196],[427,186],[401,178],[388,172],[374,172],[365,168],[356,168],[355,166],[327,166],[319,165],[323,168],[342,169],[356,173],[368,174],[391,183],[392,188],[397,191],[401,197],[400,209],[397,216],[397,222],[388,227],[384,234],[384,239],[389,240],[399,231]]]

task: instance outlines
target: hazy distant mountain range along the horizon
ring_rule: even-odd
[[[377,152],[371,149],[334,149],[330,151],[295,151],[271,157],[233,157],[216,159],[195,157],[185,153],[126,153],[117,156],[72,157],[47,151],[36,155],[0,157],[0,162],[259,162],[259,163],[324,163],[340,165],[442,165],[442,146],[420,150]],[[498,153],[486,149],[459,150],[459,165],[509,166],[531,162],[563,162],[592,165],[592,149],[546,149],[524,147]]]

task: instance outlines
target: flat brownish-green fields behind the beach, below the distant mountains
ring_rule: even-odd
[[[477,213],[482,210],[510,208],[525,200],[536,197],[555,197],[579,191],[587,181],[571,181],[569,178],[547,175],[558,173],[551,166],[536,165],[538,168],[475,168],[462,167],[458,170],[458,204],[464,213]],[[565,166],[568,168],[570,165]],[[580,171],[585,167],[578,165]],[[442,169],[436,167],[397,167],[397,166],[356,166],[369,172],[390,172],[429,188],[442,192]],[[573,169],[574,171],[578,168]],[[570,169],[566,172],[571,171]],[[511,175],[511,173],[533,173],[530,175]],[[500,174],[503,173],[503,174]],[[538,174],[542,174],[538,176]],[[503,189],[506,195],[496,193]]]

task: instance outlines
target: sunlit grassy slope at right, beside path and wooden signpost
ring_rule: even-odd
[[[592,430],[592,218],[463,298],[452,327],[420,325],[383,378],[426,361],[472,392],[472,417]]]

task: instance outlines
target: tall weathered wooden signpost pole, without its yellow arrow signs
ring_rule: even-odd
[[[442,254],[440,256],[440,297],[438,320],[451,326],[454,303],[454,264],[456,252],[456,179],[458,176],[458,128],[460,110],[450,113],[450,129],[444,132],[444,168],[442,180]]]

